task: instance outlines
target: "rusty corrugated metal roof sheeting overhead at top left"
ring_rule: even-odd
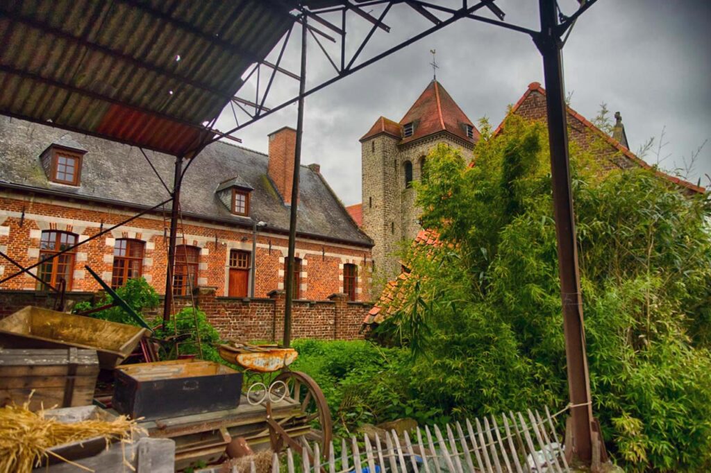
[[[0,114],[181,156],[291,26],[288,11],[259,0],[1,1]]]

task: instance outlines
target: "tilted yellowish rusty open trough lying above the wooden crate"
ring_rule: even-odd
[[[99,365],[113,369],[131,354],[146,332],[133,325],[28,305],[0,320],[0,346],[94,349]]]

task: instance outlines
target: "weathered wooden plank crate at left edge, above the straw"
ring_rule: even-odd
[[[27,401],[37,411],[92,403],[99,359],[96,350],[0,348],[0,404]]]

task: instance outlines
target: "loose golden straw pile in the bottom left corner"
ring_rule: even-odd
[[[91,471],[48,449],[91,437],[103,437],[108,447],[112,440],[132,442],[134,433],[141,430],[134,420],[123,415],[112,422],[83,420],[66,424],[46,418],[44,411],[32,412],[28,407],[29,403],[24,403],[0,408],[0,473],[31,472],[50,455]]]

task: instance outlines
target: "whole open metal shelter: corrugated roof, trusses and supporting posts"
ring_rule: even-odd
[[[595,466],[605,459],[606,454],[599,424],[592,416],[587,373],[561,50],[577,18],[597,0],[577,0],[579,7],[570,15],[562,12],[557,0],[538,0],[540,31],[505,23],[504,12],[494,1],[4,1],[0,2],[0,114],[127,143],[138,146],[141,151],[149,148],[176,156],[172,190],[158,176],[170,198],[111,227],[125,224],[167,202],[172,203],[164,304],[168,312],[172,299],[171,276],[181,182],[186,170],[196,161],[191,158],[205,146],[220,138],[232,138],[232,133],[298,102],[292,189],[292,202],[296,202],[305,97],[462,18],[527,34],[542,55],[548,92],[553,203],[572,414],[567,426],[571,441],[566,442],[566,450],[567,455],[576,455],[586,464]],[[454,6],[443,6],[445,3]],[[385,20],[393,6],[416,11],[432,26],[362,60],[360,54],[373,35],[378,31],[390,31]],[[378,13],[371,14],[376,9]],[[484,16],[482,13],[485,12],[489,15]],[[495,18],[491,18],[491,14]],[[371,24],[365,37],[355,41],[353,35],[346,35],[347,20],[353,16]],[[295,23],[301,26],[301,70],[298,75],[281,67]],[[309,36],[331,63],[335,74],[306,89]],[[282,38],[279,57],[272,64],[265,58]],[[331,49],[329,53],[324,46],[326,41],[340,43],[339,51],[334,54]],[[347,51],[353,50],[353,43],[355,53],[348,55]],[[242,79],[250,67],[251,72]],[[268,68],[270,75],[267,87],[260,93],[262,67]],[[254,99],[235,96],[255,72]],[[298,80],[299,92],[291,99],[267,107],[267,97],[277,72]],[[213,129],[213,124],[228,105],[235,125],[222,133]],[[235,105],[240,114],[247,117],[242,123]],[[184,164],[186,158],[188,163]],[[147,156],[146,160],[150,163]],[[292,206],[289,226],[289,275],[293,273],[296,207]],[[80,244],[109,231],[102,230]],[[29,270],[39,264],[23,268],[6,254],[0,253],[0,256],[21,270],[2,278],[0,283],[23,273],[31,274]],[[284,314],[284,342],[287,346],[292,284],[292,278],[287,278]]]

